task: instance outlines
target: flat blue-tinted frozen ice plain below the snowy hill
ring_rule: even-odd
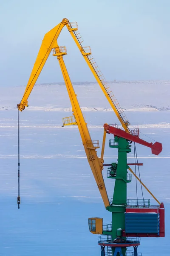
[[[102,217],[111,223],[91,173],[77,128],[61,128],[61,117],[68,113],[28,111],[21,113],[20,196],[17,209],[17,113],[2,111],[0,127],[0,256],[100,255],[97,236],[88,230],[89,217]],[[22,116],[25,114],[25,116]],[[68,114],[68,116],[71,113]],[[102,122],[111,119],[106,113],[87,113],[93,140],[102,143]],[[141,124],[168,123],[169,112],[130,113],[130,120]],[[158,122],[159,120],[159,122]],[[114,123],[114,122],[113,122]],[[30,127],[31,126],[31,127]],[[56,127],[53,127],[56,126]],[[168,128],[142,128],[142,133],[162,142],[163,151],[156,157],[150,148],[137,146],[141,178],[153,194],[164,202],[165,238],[142,238],[142,256],[169,255],[170,175]],[[110,138],[110,137],[109,137]],[[116,161],[116,149],[106,141],[105,163]],[[143,137],[144,139],[144,137]],[[145,140],[149,138],[145,138]],[[132,147],[133,148],[133,147]],[[100,152],[100,151],[99,151]],[[100,155],[100,153],[99,153]],[[132,153],[128,161],[133,160]],[[134,168],[133,168],[134,171]],[[109,198],[113,181],[103,170]],[[138,193],[141,198],[140,186]],[[135,179],[127,184],[129,198],[136,198]],[[144,198],[150,195],[144,190]],[[152,201],[153,202],[153,201]]]

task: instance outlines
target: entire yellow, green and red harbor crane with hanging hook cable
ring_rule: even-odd
[[[104,135],[102,142],[101,156],[97,155],[97,148],[99,148],[99,141],[92,140],[88,131],[88,126],[82,114],[77,95],[71,83],[68,70],[65,66],[63,56],[67,54],[66,47],[59,47],[57,39],[63,27],[66,26],[79,48],[83,58],[85,59],[91,72],[94,74],[96,81],[102,89],[102,92],[108,99],[113,111],[116,113],[122,127],[117,128],[116,125],[104,124]],[[42,41],[37,59],[35,61],[33,70],[31,72],[26,90],[18,107],[18,137],[19,137],[19,113],[25,107],[28,107],[28,97],[36,83],[45,62],[51,51],[53,56],[57,57],[65,85],[68,91],[68,96],[72,105],[73,115],[63,118],[63,126],[77,125],[82,139],[82,144],[85,149],[88,163],[94,175],[96,185],[101,194],[105,208],[112,212],[112,224],[103,224],[102,218],[89,218],[88,225],[91,233],[101,234],[98,237],[98,244],[101,246],[101,256],[140,256],[137,252],[140,245],[140,237],[164,237],[164,204],[160,203],[153,194],[142,183],[140,177],[130,169],[130,165],[138,166],[137,154],[135,163],[127,163],[127,154],[131,151],[131,143],[139,143],[141,145],[151,148],[152,154],[158,155],[162,151],[162,145],[159,142],[148,143],[139,138],[139,129],[130,131],[127,117],[120,107],[116,97],[114,96],[110,86],[108,85],[102,72],[99,70],[94,57],[91,54],[90,47],[82,46],[82,37],[78,31],[77,23],[70,23],[68,19],[64,18],[61,23],[51,29]],[[118,149],[118,161],[111,164],[104,164],[104,149],[106,135],[111,134],[114,139],[109,141],[110,148]],[[18,148],[20,146],[18,140]],[[136,148],[135,148],[136,150]],[[108,178],[115,179],[113,198],[109,200],[108,193],[105,187],[105,182],[102,175],[103,166],[110,166],[108,168]],[[132,179],[130,170],[136,179],[150,192],[150,195],[156,199],[158,205],[150,205],[150,200],[127,199],[127,183]],[[18,185],[20,185],[20,150],[18,150]],[[18,186],[19,188],[19,186]],[[19,191],[19,190],[18,190]],[[20,191],[19,191],[20,192]],[[20,206],[20,194],[17,198],[18,207]],[[127,247],[133,247],[133,251],[127,251]]]

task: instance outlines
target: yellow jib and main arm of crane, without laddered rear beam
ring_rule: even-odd
[[[51,29],[48,33],[45,34],[40,50],[38,52],[33,70],[31,72],[30,78],[28,80],[28,84],[26,86],[26,90],[23,94],[23,98],[21,99],[20,104],[18,104],[18,110],[23,111],[26,106],[28,106],[28,97],[36,83],[44,64],[53,49],[53,55],[57,56],[59,61],[60,68],[62,70],[62,75],[65,80],[65,85],[68,90],[68,95],[71,101],[71,105],[73,108],[74,116],[71,119],[64,119],[65,125],[69,124],[77,124],[79,128],[79,133],[82,138],[82,143],[85,148],[85,153],[87,155],[88,163],[93,172],[94,178],[96,180],[97,186],[99,188],[99,192],[102,196],[105,207],[110,205],[108,194],[105,188],[105,182],[102,176],[103,169],[103,159],[100,159],[97,156],[96,148],[99,148],[99,141],[92,141],[91,136],[88,131],[87,124],[85,123],[85,119],[83,117],[81,108],[79,106],[79,102],[77,100],[76,94],[74,92],[74,88],[71,84],[71,80],[68,75],[68,71],[65,67],[65,63],[63,61],[62,56],[65,55],[66,47],[59,47],[57,44],[57,38],[62,30],[62,28],[67,25],[69,21],[67,19],[63,19],[61,23]],[[74,120],[74,122],[73,122]],[[102,151],[104,151],[104,145],[102,146]]]

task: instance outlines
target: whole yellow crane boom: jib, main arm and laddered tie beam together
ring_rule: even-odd
[[[29,97],[41,71],[42,71],[42,68],[44,67],[46,60],[48,59],[48,56],[49,56],[51,50],[53,49],[53,55],[57,56],[57,59],[59,61],[59,65],[62,70],[62,75],[64,77],[65,84],[66,84],[66,87],[68,90],[68,95],[69,95],[71,105],[73,108],[73,116],[64,118],[63,123],[64,123],[64,125],[70,125],[70,124],[78,125],[79,132],[80,132],[80,135],[82,138],[82,143],[85,148],[85,153],[87,155],[89,165],[91,166],[91,170],[93,172],[97,186],[101,193],[105,207],[108,207],[110,204],[109,204],[108,195],[107,195],[105,183],[104,183],[103,176],[102,176],[103,154],[104,154],[104,148],[105,148],[106,131],[104,131],[101,158],[99,158],[96,153],[96,148],[99,148],[99,142],[91,140],[91,136],[89,134],[87,124],[85,123],[85,119],[83,117],[81,108],[79,106],[79,102],[77,101],[77,96],[74,92],[74,88],[71,84],[71,80],[69,78],[67,69],[65,67],[65,63],[62,58],[62,56],[66,54],[66,48],[58,47],[58,44],[57,44],[57,39],[59,37],[59,34],[65,25],[67,26],[68,31],[71,33],[72,38],[74,39],[77,47],[79,48],[80,52],[82,53],[82,56],[85,58],[85,61],[88,64],[88,67],[90,68],[96,81],[98,82],[103,93],[105,94],[106,98],[108,99],[108,102],[110,103],[111,107],[113,108],[113,111],[116,113],[116,116],[118,117],[119,121],[121,122],[123,128],[125,129],[125,131],[127,133],[131,133],[128,128],[128,125],[130,125],[130,122],[128,121],[127,117],[125,116],[124,111],[120,107],[120,105],[119,105],[116,97],[114,96],[111,88],[109,87],[105,77],[102,75],[102,72],[99,70],[99,67],[96,64],[96,61],[94,60],[94,58],[91,54],[91,48],[90,47],[82,47],[83,40],[78,31],[77,22],[70,23],[69,20],[66,18],[62,19],[61,23],[59,23],[57,26],[55,26],[53,29],[51,29],[49,32],[47,32],[45,34],[45,36],[42,40],[42,44],[41,44],[40,50],[38,52],[36,61],[34,63],[34,67],[32,69],[30,78],[28,80],[28,84],[27,84],[25,92],[23,94],[23,98],[21,99],[21,101],[17,105],[17,107],[18,107],[19,111],[23,111],[25,109],[25,107],[28,107],[28,97]],[[130,169],[130,172],[133,172],[133,171]]]

